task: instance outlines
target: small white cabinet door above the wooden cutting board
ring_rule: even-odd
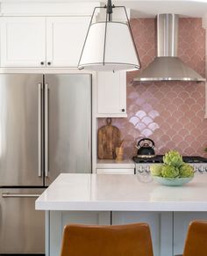
[[[126,117],[126,73],[98,72],[97,117]]]

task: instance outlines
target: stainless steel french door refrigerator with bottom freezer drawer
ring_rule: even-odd
[[[0,75],[0,254],[44,253],[38,195],[91,172],[91,77]]]

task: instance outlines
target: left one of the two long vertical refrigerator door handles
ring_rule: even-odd
[[[38,176],[42,176],[42,84],[38,84]]]

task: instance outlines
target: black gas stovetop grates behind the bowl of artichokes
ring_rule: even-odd
[[[163,155],[157,155],[155,157],[132,157],[133,161],[137,164],[149,164],[149,163],[163,163]],[[207,163],[207,158],[198,156],[183,156],[183,162],[185,163]]]

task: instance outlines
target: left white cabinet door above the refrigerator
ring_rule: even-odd
[[[1,22],[1,66],[41,67],[46,60],[46,19],[4,17]]]

